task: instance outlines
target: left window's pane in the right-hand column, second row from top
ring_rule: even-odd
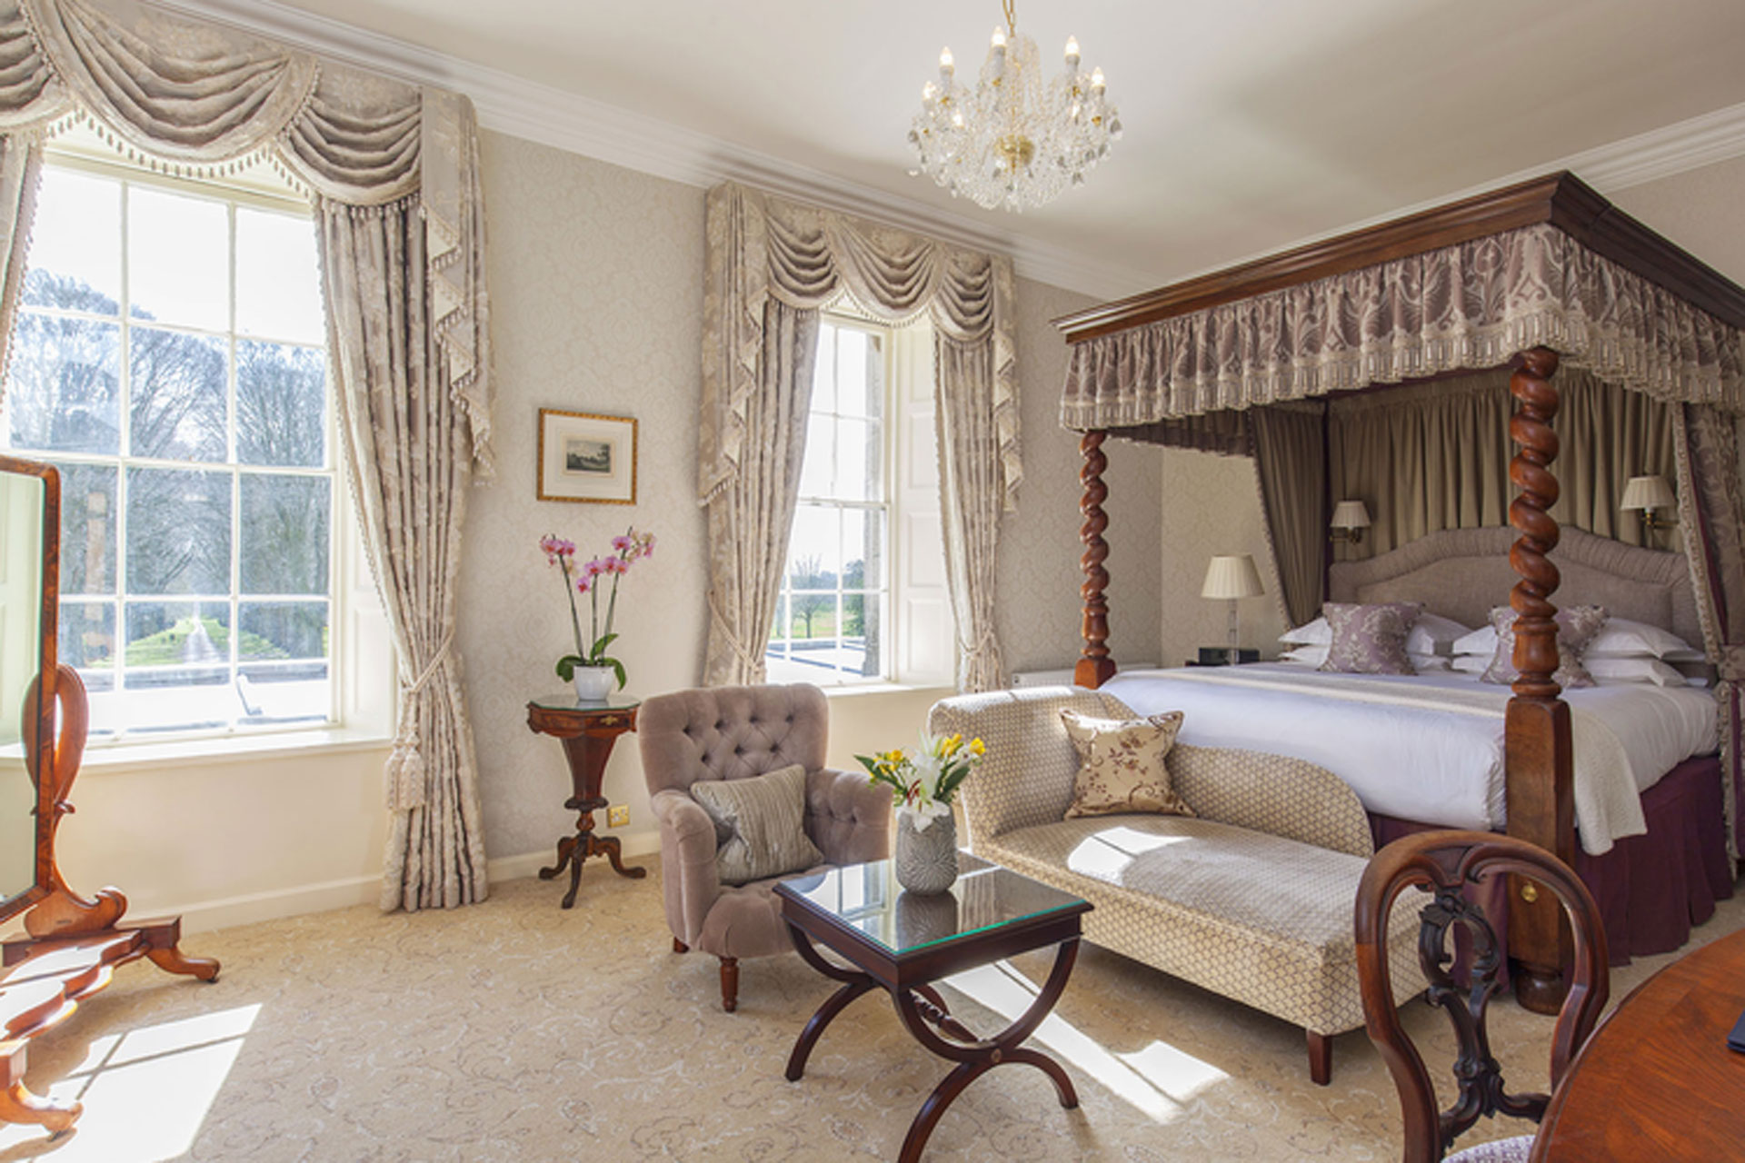
[[[237,342],[236,459],[300,469],[326,464],[326,356],[321,349]]]

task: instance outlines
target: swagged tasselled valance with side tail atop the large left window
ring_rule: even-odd
[[[466,98],[129,5],[0,0],[0,133],[68,119],[154,169],[216,176],[265,155],[326,207],[415,199],[436,335],[471,455],[490,474],[476,133]]]

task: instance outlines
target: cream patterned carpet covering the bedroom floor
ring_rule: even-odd
[[[590,865],[576,908],[560,894],[511,881],[452,912],[197,935],[185,949],[223,961],[215,985],[127,966],[31,1050],[33,1088],[86,1102],[77,1130],[0,1128],[0,1161],[892,1160],[948,1072],[869,994],[789,1083],[787,1051],[831,983],[797,957],[745,962],[728,1015],[715,961],[668,952],[658,867],[625,881]],[[1735,898],[1696,940],[1742,924]],[[955,978],[946,997],[998,1029],[1049,959]],[[1614,971],[1614,999],[1668,959]],[[1408,1010],[1443,1069],[1445,1018]],[[1506,1001],[1492,1029],[1511,1081],[1543,1086],[1550,1020]],[[1300,1030],[1089,945],[1031,1041],[1066,1064],[1082,1105],[1063,1111],[1040,1071],[1002,1065],[946,1112],[928,1160],[1399,1154],[1393,1083],[1361,1030],[1337,1039],[1333,1085],[1314,1086]]]

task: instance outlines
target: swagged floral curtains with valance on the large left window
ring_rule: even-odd
[[[0,0],[0,326],[40,141],[70,120],[141,164],[218,176],[267,157],[321,216],[352,495],[400,652],[384,908],[485,894],[454,638],[464,485],[490,476],[478,143],[466,98],[129,5]]]

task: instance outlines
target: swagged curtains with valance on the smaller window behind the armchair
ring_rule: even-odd
[[[773,499],[799,473],[804,434],[766,427],[789,415],[797,391],[789,375],[810,357],[778,347],[775,366],[764,338],[766,303],[817,312],[839,295],[886,323],[927,314],[941,424],[946,567],[958,616],[960,682],[1002,685],[993,628],[993,546],[1000,514],[1016,507],[1023,476],[1017,439],[1017,373],[1012,342],[1010,260],[934,242],[904,230],[834,214],[724,183],[708,192],[708,258],[703,291],[703,422],[698,436],[698,497],[708,507],[710,589],[708,685],[763,682],[763,654],[775,605],[759,595],[780,589],[792,523]],[[806,387],[810,392],[810,384]],[[771,441],[796,443],[792,459],[763,457]],[[747,561],[724,539],[780,534],[778,549]],[[733,574],[738,568],[764,572]]]

